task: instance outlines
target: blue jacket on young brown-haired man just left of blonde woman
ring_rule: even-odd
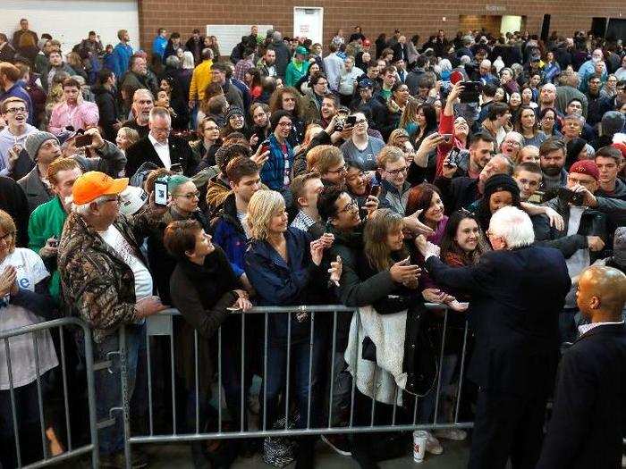
[[[213,242],[224,250],[233,267],[233,272],[239,278],[243,273],[243,255],[248,247],[248,239],[239,218],[237,218],[234,194],[226,197],[218,216],[213,233]]]

